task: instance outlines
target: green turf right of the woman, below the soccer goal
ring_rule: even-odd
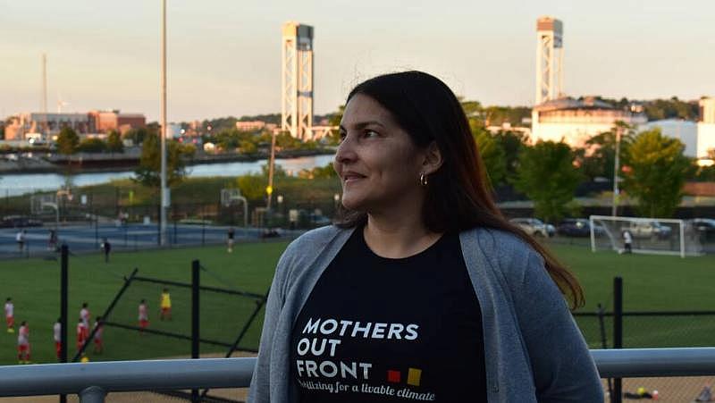
[[[557,256],[576,273],[586,303],[578,312],[595,312],[601,303],[613,309],[613,278],[623,278],[623,309],[628,311],[715,311],[712,286],[715,256],[687,257],[618,255],[578,246],[559,245]],[[601,348],[599,324],[594,317],[577,317],[591,348]],[[629,348],[712,346],[715,315],[626,316],[623,344]],[[610,346],[612,322],[605,321]]]

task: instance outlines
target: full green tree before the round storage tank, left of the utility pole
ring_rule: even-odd
[[[566,143],[540,141],[519,155],[514,186],[534,202],[534,214],[556,222],[568,214],[581,173],[574,169],[574,152]]]

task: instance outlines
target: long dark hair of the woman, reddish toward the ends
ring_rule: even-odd
[[[510,232],[543,256],[551,279],[573,308],[584,305],[584,291],[576,276],[497,208],[467,116],[442,80],[422,71],[384,74],[353,88],[346,105],[357,94],[373,98],[390,111],[416,147],[428,147],[433,141],[439,147],[443,163],[428,178],[422,210],[428,230],[459,232],[484,227]],[[342,209],[337,225],[352,228],[366,220],[364,212]]]

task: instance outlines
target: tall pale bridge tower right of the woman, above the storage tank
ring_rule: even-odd
[[[534,105],[563,95],[563,23],[552,17],[536,21],[536,99]]]

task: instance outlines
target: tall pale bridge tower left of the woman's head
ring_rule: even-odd
[[[282,27],[281,129],[301,140],[313,130],[313,27],[289,21]]]

